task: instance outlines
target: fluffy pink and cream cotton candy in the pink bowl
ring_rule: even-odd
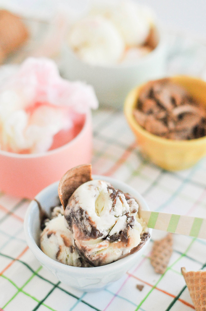
[[[72,132],[97,106],[92,86],[61,78],[52,60],[28,58],[0,86],[0,149],[47,151],[55,135]]]

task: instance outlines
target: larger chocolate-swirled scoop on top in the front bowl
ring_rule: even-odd
[[[102,180],[88,181],[74,191],[65,219],[78,252],[94,266],[137,251],[149,237],[135,199]]]

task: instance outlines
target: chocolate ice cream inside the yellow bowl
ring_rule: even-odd
[[[190,140],[206,135],[206,109],[169,78],[141,87],[133,115],[139,125],[160,137]]]

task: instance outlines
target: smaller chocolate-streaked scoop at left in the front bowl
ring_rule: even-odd
[[[72,234],[65,226],[63,215],[54,217],[47,222],[41,233],[40,247],[47,256],[56,261],[69,266],[82,266]]]

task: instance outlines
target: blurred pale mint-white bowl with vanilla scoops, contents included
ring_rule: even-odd
[[[60,68],[64,77],[93,85],[100,105],[121,107],[133,87],[163,77],[165,63],[153,12],[132,0],[103,1],[69,24]]]

